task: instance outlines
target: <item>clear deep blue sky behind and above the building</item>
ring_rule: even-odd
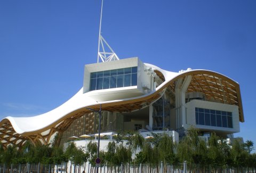
[[[100,0],[0,1],[0,119],[34,116],[67,101],[97,62]],[[241,86],[256,144],[256,1],[105,0],[102,36],[122,59],[178,72],[207,69]]]

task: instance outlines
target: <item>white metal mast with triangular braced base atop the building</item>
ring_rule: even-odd
[[[100,13],[100,30],[99,30],[98,61],[97,61],[98,63],[100,62],[100,59],[102,62],[119,60],[116,53],[109,46],[106,40],[101,36],[102,8],[103,8],[103,0],[101,2],[101,13]]]

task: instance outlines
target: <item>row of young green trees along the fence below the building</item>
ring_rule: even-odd
[[[213,133],[205,143],[198,134],[197,129],[190,128],[179,143],[174,143],[167,133],[152,133],[148,139],[135,131],[118,133],[115,140],[108,143],[106,150],[100,151],[101,165],[106,165],[109,172],[119,171],[121,166],[126,165],[127,172],[130,172],[130,166],[134,169],[135,165],[142,163],[151,172],[151,169],[158,171],[162,163],[167,172],[167,165],[175,169],[181,166],[180,163],[187,161],[188,170],[194,171],[221,172],[222,169],[229,168],[236,172],[254,172],[256,154],[251,154],[253,142],[246,141],[242,144],[235,141],[230,146]],[[96,158],[97,142],[93,140],[84,147],[76,147],[70,142],[65,152],[61,146],[54,146],[54,143],[51,146],[34,146],[28,141],[20,150],[11,145],[5,150],[0,146],[0,162],[6,166],[11,163],[60,164],[71,161],[78,166],[80,172],[79,166],[85,162],[90,162],[95,167]]]

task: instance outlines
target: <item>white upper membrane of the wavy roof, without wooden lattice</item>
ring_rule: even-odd
[[[163,87],[165,87],[170,81],[172,81],[173,79],[175,79],[179,76],[182,76],[183,74],[188,73],[188,72],[193,73],[193,72],[197,72],[197,71],[205,71],[205,72],[211,72],[214,74],[221,75],[220,73],[216,73],[216,72],[209,71],[209,70],[188,70],[188,71],[182,71],[182,72],[177,73],[177,72],[163,70],[163,69],[158,68],[152,64],[145,63],[145,65],[147,67],[151,67],[153,70],[160,71],[165,78],[165,81],[160,86],[158,86],[154,92],[157,92],[157,90],[159,90],[159,89],[163,89]],[[223,75],[221,75],[221,76],[223,76]],[[223,76],[223,77],[225,77],[225,76]],[[230,80],[232,80],[232,79],[230,79]],[[236,82],[234,81],[234,83],[236,83]],[[1,122],[3,122],[4,120],[7,119],[11,122],[13,129],[17,133],[23,134],[23,133],[37,131],[37,130],[46,128],[46,127],[50,126],[52,123],[57,122],[61,118],[65,118],[65,116],[67,114],[69,114],[73,111],[76,111],[78,109],[81,109],[81,108],[85,108],[85,107],[95,105],[95,104],[100,104],[100,103],[104,104],[104,103],[119,102],[119,101],[125,101],[125,100],[134,100],[137,98],[146,97],[148,95],[153,94],[154,92],[151,92],[151,93],[148,93],[148,94],[145,94],[142,96],[138,96],[138,97],[125,98],[123,100],[97,102],[93,98],[87,96],[86,93],[83,93],[83,88],[81,88],[78,93],[76,93],[73,97],[70,98],[70,100],[63,103],[58,108],[53,109],[52,111],[46,112],[44,114],[40,114],[35,117],[6,117],[2,121],[0,121],[0,125],[1,125]]]

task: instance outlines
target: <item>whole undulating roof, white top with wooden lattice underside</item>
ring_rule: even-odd
[[[21,146],[27,139],[49,143],[50,137],[56,131],[65,131],[71,122],[90,111],[86,108],[108,111],[133,111],[148,106],[156,101],[165,89],[174,91],[177,79],[192,76],[188,86],[188,92],[202,92],[209,101],[237,105],[239,120],[244,122],[243,107],[239,84],[218,72],[209,70],[185,70],[177,72],[166,71],[152,64],[145,63],[152,68],[163,83],[154,92],[125,98],[123,100],[111,100],[97,102],[83,93],[83,88],[67,102],[52,111],[35,117],[6,117],[0,121],[0,141],[6,147],[9,144]]]

